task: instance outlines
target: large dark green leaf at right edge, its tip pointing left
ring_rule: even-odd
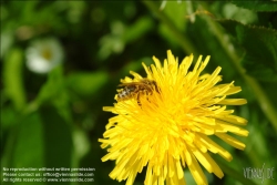
[[[277,82],[277,31],[233,20],[220,20],[219,23],[244,48],[242,63],[246,72],[259,81]]]

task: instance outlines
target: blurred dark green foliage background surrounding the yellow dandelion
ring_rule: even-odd
[[[260,2],[1,1],[1,169],[93,167],[91,184],[125,184],[109,177],[114,162],[101,162],[98,140],[113,116],[102,107],[115,102],[120,79],[145,76],[141,63],[163,61],[170,49],[179,60],[211,55],[205,72],[220,65],[222,83],[243,89],[233,97],[248,101],[229,106],[248,120],[248,137],[238,137],[246,148],[217,141],[233,161],[213,155],[225,176],[205,172],[209,184],[261,184],[244,168],[263,165],[275,167],[263,184],[276,184],[277,7]]]

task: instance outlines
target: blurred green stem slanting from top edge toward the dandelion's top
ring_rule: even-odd
[[[155,13],[155,16],[168,28],[168,30],[172,32],[172,37],[174,37],[178,41],[186,53],[199,55],[189,39],[185,37],[185,33],[182,33],[177,29],[177,27],[171,21],[171,19],[157,8],[154,1],[145,0],[143,1],[143,3],[151,10],[151,12]]]

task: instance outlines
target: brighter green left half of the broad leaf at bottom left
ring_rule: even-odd
[[[1,168],[43,167],[44,142],[42,123],[39,114],[29,114],[28,116],[18,120],[20,121],[20,124],[16,124],[11,127],[7,142],[4,143],[4,151],[1,157]],[[17,121],[17,123],[19,123],[19,121]],[[21,182],[18,184],[28,185],[30,183]],[[35,184],[44,185],[43,182]]]

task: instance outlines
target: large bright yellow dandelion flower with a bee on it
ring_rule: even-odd
[[[145,185],[164,182],[182,185],[183,168],[188,167],[197,184],[207,184],[201,163],[222,178],[224,174],[209,153],[227,161],[232,155],[209,135],[244,150],[245,144],[227,133],[248,135],[248,131],[239,127],[247,121],[226,110],[226,105],[246,103],[244,99],[226,99],[242,91],[240,88],[234,82],[217,84],[222,80],[219,66],[212,74],[201,75],[209,56],[204,62],[199,56],[193,71],[188,71],[193,55],[178,64],[167,51],[163,66],[158,59],[153,60],[155,65],[150,68],[143,63],[146,78],[131,71],[134,78],[121,81],[122,89],[115,95],[117,103],[104,107],[116,114],[109,120],[104,138],[99,140],[109,152],[102,161],[115,161],[110,177],[127,179],[131,185],[146,166]]]

